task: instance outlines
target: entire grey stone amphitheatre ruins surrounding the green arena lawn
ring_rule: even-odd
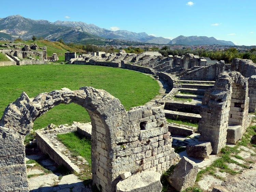
[[[57,55],[46,56],[46,47],[32,44],[15,49],[15,44],[8,46],[1,51],[11,58],[11,62],[0,62],[0,66],[45,64],[47,60],[58,60]],[[34,56],[40,58],[32,59]],[[20,60],[27,57],[31,59]],[[154,51],[83,55],[67,52],[65,60],[70,65],[101,65],[149,74],[159,83],[160,93],[145,105],[126,111],[110,93],[83,85],[79,90],[62,88],[40,93],[34,98],[22,92],[5,108],[0,120],[0,191],[31,190],[24,138],[31,132],[35,119],[59,104],[81,105],[89,113],[91,123],[40,129],[37,131],[37,147],[70,172],[79,172],[83,164],[78,165],[59,151],[57,141],[52,138],[59,132],[71,131],[89,137],[92,182],[104,192],[161,191],[161,175],[177,163],[168,178],[171,186],[177,191],[192,187],[197,173],[217,160],[226,145],[235,146],[241,141],[246,129],[254,123],[256,64],[251,60],[236,58],[232,63],[225,63],[193,54],[163,57]],[[198,129],[168,122],[166,118],[196,123]],[[177,147],[185,151],[178,154],[174,151]],[[207,185],[199,181],[199,187],[206,186],[204,191],[255,191],[255,147],[242,146],[239,150],[239,155],[244,155],[243,160],[234,160],[230,165],[237,168],[239,164],[242,168],[239,171],[247,173],[244,176],[247,186],[246,182],[237,185],[237,180],[218,169],[218,176],[214,173],[215,177],[204,177],[215,183],[209,181]],[[250,159],[250,166],[234,163],[245,163],[246,158]],[[76,191],[90,190],[76,188]],[[61,190],[53,186],[45,191]]]

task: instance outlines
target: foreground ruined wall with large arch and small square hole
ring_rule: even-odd
[[[28,191],[23,139],[33,122],[60,103],[83,106],[91,118],[93,184],[102,191],[115,191],[120,174],[143,170],[166,171],[178,161],[160,107],[140,106],[126,112],[120,101],[104,90],[82,87],[26,93],[6,107],[0,121],[0,189]]]

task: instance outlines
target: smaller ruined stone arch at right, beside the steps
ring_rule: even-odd
[[[222,73],[214,87],[205,91],[202,104],[199,139],[210,141],[213,153],[217,154],[226,145],[229,124],[241,125],[241,137],[246,131],[249,105],[247,79],[239,72]],[[238,111],[241,112],[239,115]]]

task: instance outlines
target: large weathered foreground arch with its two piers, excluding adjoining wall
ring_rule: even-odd
[[[115,178],[110,168],[112,147],[118,144],[118,138],[129,126],[128,114],[120,101],[108,92],[81,87],[75,91],[62,88],[40,93],[34,98],[23,92],[5,108],[0,121],[0,149],[3,151],[0,154],[0,180],[3,180],[0,191],[28,190],[23,139],[32,129],[35,119],[58,104],[72,102],[83,106],[91,118],[93,183],[101,186],[102,191],[114,190],[112,183]]]

